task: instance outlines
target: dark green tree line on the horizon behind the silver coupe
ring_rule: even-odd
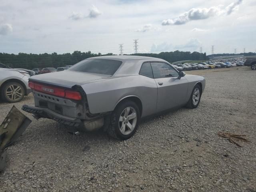
[[[77,62],[84,60],[90,57],[96,56],[106,56],[113,55],[112,53],[108,54],[95,54],[90,51],[88,52],[80,52],[74,51],[73,53],[64,53],[57,54],[56,52],[48,54],[27,54],[27,53],[19,53],[19,54],[8,54],[8,53],[0,53],[0,62],[10,66],[11,68],[45,68],[45,67],[64,67],[67,65],[74,65]],[[174,51],[174,52],[161,52],[159,54],[156,53],[140,53],[140,54],[131,54],[137,56],[149,56],[164,59],[168,62],[176,62],[180,60],[208,60],[208,56],[206,53],[199,52],[183,52],[183,51]]]

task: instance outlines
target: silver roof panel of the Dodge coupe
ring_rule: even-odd
[[[155,57],[146,57],[146,56],[136,56],[136,55],[111,55],[111,56],[99,56],[99,57],[91,57],[88,59],[109,59],[109,60],[119,60],[119,61],[126,61],[126,60],[152,60],[152,61],[163,61],[163,59],[155,58]]]

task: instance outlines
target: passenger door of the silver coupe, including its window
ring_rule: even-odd
[[[157,91],[157,112],[185,104],[188,92],[186,77],[179,78],[179,72],[164,62],[151,62]]]

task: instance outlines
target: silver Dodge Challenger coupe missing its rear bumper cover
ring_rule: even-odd
[[[196,108],[205,87],[159,58],[100,56],[58,73],[29,78],[35,106],[22,109],[86,131],[102,130],[126,140],[140,119],[166,110]]]

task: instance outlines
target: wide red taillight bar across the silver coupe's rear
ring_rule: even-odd
[[[34,82],[29,82],[28,86],[33,90],[44,92],[44,93],[55,95],[55,96],[64,97],[67,99],[73,99],[73,100],[82,99],[81,94],[77,91],[65,90],[64,88],[57,88],[53,86],[45,86],[45,85],[37,84]]]

